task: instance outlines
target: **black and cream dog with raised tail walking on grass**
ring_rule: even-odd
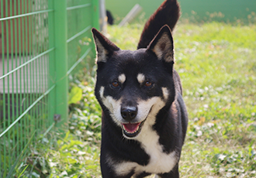
[[[103,178],[179,177],[188,125],[171,35],[179,14],[176,0],[163,2],[146,22],[135,51],[120,50],[92,29]]]

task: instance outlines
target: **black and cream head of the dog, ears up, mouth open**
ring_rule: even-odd
[[[120,50],[96,29],[92,33],[98,64],[96,98],[123,136],[133,139],[175,100],[171,30],[163,26],[147,49],[135,51]]]

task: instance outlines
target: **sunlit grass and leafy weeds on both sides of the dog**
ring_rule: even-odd
[[[109,26],[107,36],[121,49],[136,50],[142,28]],[[189,111],[181,177],[256,176],[255,32],[255,25],[220,22],[176,27],[175,69]],[[101,109],[94,76],[95,67],[70,77],[71,91],[82,98],[71,101],[69,131],[64,138],[56,132],[42,137],[17,175],[100,177]]]

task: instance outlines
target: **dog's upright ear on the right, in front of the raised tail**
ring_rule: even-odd
[[[164,60],[167,63],[175,63],[171,29],[167,25],[159,30],[157,36],[155,36],[149,46],[147,46],[147,50],[151,50],[155,53],[158,60]]]

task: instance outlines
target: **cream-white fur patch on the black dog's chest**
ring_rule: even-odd
[[[146,173],[168,173],[177,163],[176,152],[163,152],[162,145],[158,142],[159,135],[151,129],[149,125],[144,125],[144,131],[141,132],[137,140],[141,143],[142,148],[150,156],[150,162],[146,166],[141,166],[134,162],[118,163],[114,166],[119,176],[135,171],[135,175],[142,172]],[[134,153],[136,154],[136,152]]]

